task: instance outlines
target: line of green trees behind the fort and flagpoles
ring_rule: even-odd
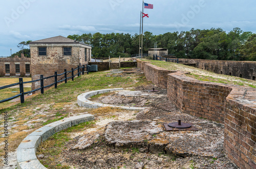
[[[124,33],[88,33],[82,35],[69,35],[76,41],[92,45],[93,57],[130,57],[139,53],[139,35]],[[20,42],[19,53],[30,55],[24,46],[27,42]],[[150,48],[166,48],[169,55],[189,59],[213,60],[250,60],[256,61],[256,34],[244,32],[234,28],[226,33],[221,28],[191,29],[190,31],[168,32],[153,35],[151,32],[143,34],[143,53]],[[13,55],[16,55],[13,54]]]

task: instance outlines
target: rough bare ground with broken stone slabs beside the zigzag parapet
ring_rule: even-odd
[[[148,92],[153,87],[159,92]],[[68,141],[58,160],[70,168],[238,168],[225,157],[223,150],[224,126],[206,119],[181,113],[168,101],[166,89],[154,85],[139,86],[130,90],[111,92],[92,98],[94,102],[104,104],[147,107],[145,111],[119,111],[108,114],[108,117],[97,116],[94,128],[83,133],[75,133]],[[114,146],[106,138],[106,128],[111,127],[111,137],[126,139],[131,132],[131,138],[138,133],[134,127],[125,128],[124,123],[149,122],[157,123],[164,130],[163,123],[176,122],[193,123],[199,131],[178,131],[149,134],[146,143],[129,142],[120,147]],[[118,127],[119,126],[119,127]],[[142,126],[143,128],[143,126]],[[113,131],[112,131],[113,130]],[[122,133],[124,134],[116,134]],[[129,132],[127,132],[129,131]],[[142,130],[143,132],[143,130]],[[163,138],[164,135],[164,138]],[[86,139],[85,139],[86,138]],[[137,138],[137,137],[136,137]],[[159,150],[150,150],[148,143],[154,140],[166,139],[169,144],[159,146]],[[86,141],[84,141],[86,140]],[[80,143],[84,147],[74,147]],[[85,144],[84,144],[85,143]],[[125,143],[123,143],[125,144]],[[128,146],[127,146],[128,145]],[[176,149],[176,150],[175,150]],[[44,161],[48,155],[37,154]]]

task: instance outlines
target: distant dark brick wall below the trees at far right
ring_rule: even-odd
[[[256,62],[204,59],[179,59],[179,63],[194,63],[197,68],[216,74],[230,75],[255,80]]]

